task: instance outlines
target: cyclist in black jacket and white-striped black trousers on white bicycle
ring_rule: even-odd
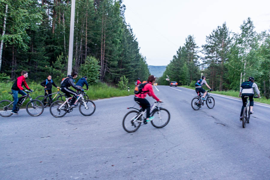
[[[80,90],[79,87],[77,87],[75,84],[74,84],[74,79],[78,76],[78,73],[73,71],[71,73],[71,75],[68,75],[67,78],[65,78],[62,82],[61,82],[61,91],[63,93],[65,93],[65,95],[67,97],[71,97],[71,94],[73,95],[70,103],[71,103],[71,107],[75,107],[76,105],[74,105],[74,102],[77,98],[77,93],[71,89],[69,89],[70,86],[72,86],[74,89],[76,90]]]

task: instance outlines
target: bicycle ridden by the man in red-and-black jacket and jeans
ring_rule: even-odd
[[[19,97],[18,103],[16,105],[16,110],[19,111],[23,102],[25,102],[26,99],[29,98],[30,101],[26,104],[26,112],[30,116],[41,115],[44,111],[43,103],[38,99],[32,99],[29,93],[32,93],[33,91],[25,90],[25,92],[27,93],[26,95]],[[13,98],[12,102],[10,100],[0,101],[0,116],[2,117],[9,117],[12,115],[11,111],[13,109],[14,96],[12,92],[10,92],[9,94],[12,95]]]

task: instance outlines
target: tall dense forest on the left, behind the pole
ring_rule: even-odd
[[[0,0],[0,77],[67,75],[70,0]],[[73,70],[89,82],[116,84],[149,76],[146,58],[125,22],[122,0],[76,0]]]

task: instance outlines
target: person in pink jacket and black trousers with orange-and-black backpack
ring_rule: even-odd
[[[155,95],[153,91],[152,84],[155,83],[156,77],[154,75],[150,75],[147,79],[147,84],[143,87],[142,93],[135,94],[134,100],[139,102],[143,108],[143,111],[146,109],[146,122],[149,122],[154,119],[154,117],[150,117],[150,103],[145,99],[146,94],[155,98],[158,102],[162,102],[158,97]]]

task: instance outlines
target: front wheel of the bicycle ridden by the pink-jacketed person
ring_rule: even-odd
[[[154,119],[151,121],[155,128],[163,128],[170,121],[170,112],[167,109],[159,108],[154,110],[152,113]]]

